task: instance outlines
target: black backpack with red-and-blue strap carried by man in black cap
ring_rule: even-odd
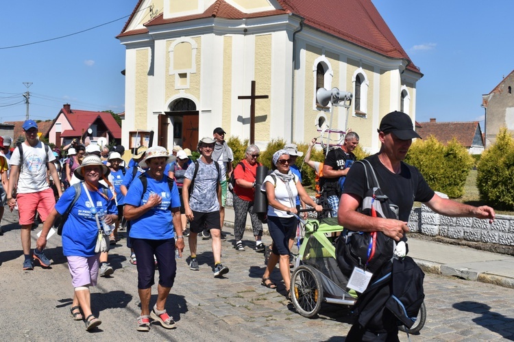
[[[379,218],[398,219],[398,207],[382,193],[371,163],[362,163],[367,180],[367,191],[358,208],[360,213]],[[376,276],[382,267],[393,259],[396,243],[381,232],[356,232],[344,228],[337,239],[336,259],[341,272],[350,277],[354,267],[366,269]]]

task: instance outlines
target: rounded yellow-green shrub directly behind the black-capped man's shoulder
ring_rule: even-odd
[[[433,136],[414,142],[405,161],[419,169],[432,189],[450,198],[464,194],[466,177],[474,165],[467,149],[455,139],[444,146]]]

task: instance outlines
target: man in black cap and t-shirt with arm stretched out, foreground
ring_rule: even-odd
[[[347,174],[338,211],[339,224],[350,231],[382,232],[395,241],[400,241],[408,232],[408,215],[415,200],[424,202],[430,209],[442,215],[489,219],[490,223],[493,222],[493,208],[473,207],[441,198],[430,189],[417,168],[403,162],[415,137],[420,138],[413,129],[411,118],[401,111],[393,111],[380,122],[380,151],[368,158],[376,173],[380,189],[399,207],[399,220],[375,218],[357,211],[367,191],[367,184],[363,165],[356,163]],[[380,310],[383,311],[382,327],[379,330],[361,326],[356,321],[348,332],[347,341],[398,341],[396,317],[387,308]]]

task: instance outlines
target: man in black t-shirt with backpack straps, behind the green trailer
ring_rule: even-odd
[[[323,196],[326,196],[332,208],[332,217],[337,216],[339,198],[343,191],[346,174],[352,163],[356,161],[353,153],[358,145],[358,134],[347,133],[345,143],[341,148],[330,150],[323,165]]]

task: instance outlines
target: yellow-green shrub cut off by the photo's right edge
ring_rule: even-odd
[[[514,140],[503,127],[496,142],[482,153],[478,162],[476,186],[480,199],[498,209],[514,207]]]

